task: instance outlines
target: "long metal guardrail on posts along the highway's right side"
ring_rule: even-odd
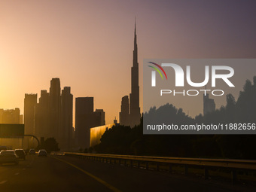
[[[87,158],[90,160],[99,160],[110,163],[124,161],[124,165],[127,165],[127,161],[130,162],[130,167],[133,168],[133,163],[136,162],[137,167],[141,167],[141,163],[145,163],[145,169],[148,168],[149,163],[156,164],[156,170],[159,170],[160,164],[167,164],[168,171],[172,172],[172,166],[181,165],[184,166],[184,175],[187,175],[188,166],[197,166],[204,169],[205,178],[209,178],[209,169],[211,168],[224,168],[229,169],[231,172],[231,179],[233,183],[236,182],[236,174],[238,170],[252,170],[256,171],[256,160],[232,160],[232,159],[206,159],[206,158],[179,158],[179,157],[145,157],[145,156],[133,156],[133,155],[117,155],[117,154],[84,154],[84,153],[72,153],[64,152],[67,156],[77,156],[81,158]]]

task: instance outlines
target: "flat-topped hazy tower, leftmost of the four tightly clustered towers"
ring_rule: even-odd
[[[24,124],[25,134],[35,134],[35,105],[37,103],[38,94],[25,94],[24,99]],[[20,119],[20,118],[19,118]]]

